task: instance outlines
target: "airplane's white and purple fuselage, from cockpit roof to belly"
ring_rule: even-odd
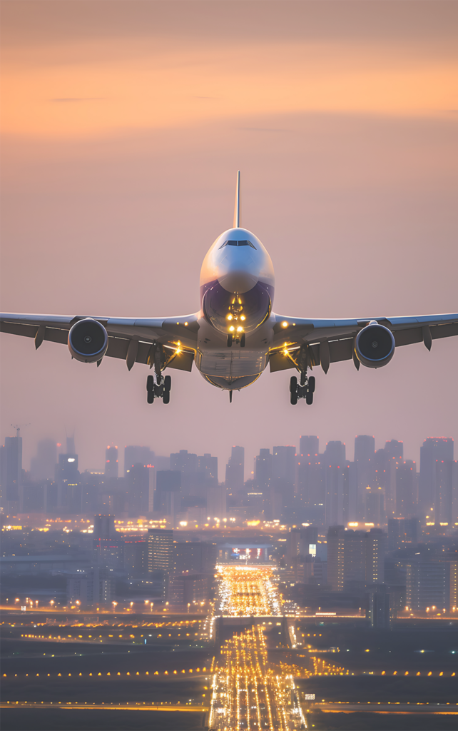
[[[259,238],[243,228],[218,236],[200,273],[195,361],[213,385],[240,389],[264,371],[273,337],[274,288],[272,260]]]

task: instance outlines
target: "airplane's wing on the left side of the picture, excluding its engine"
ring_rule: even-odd
[[[35,347],[43,341],[67,344],[69,330],[76,322],[88,316],[0,314],[0,331],[34,338]],[[123,358],[127,368],[134,363],[153,366],[153,346],[162,346],[165,367],[191,371],[196,349],[197,315],[184,317],[93,317],[108,334],[106,356]]]

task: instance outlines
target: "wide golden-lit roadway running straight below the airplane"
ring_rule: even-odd
[[[272,570],[219,567],[223,616],[278,616],[281,601]],[[307,728],[292,675],[278,675],[267,661],[264,628],[254,625],[227,640],[215,668],[210,721],[221,731],[287,731]]]

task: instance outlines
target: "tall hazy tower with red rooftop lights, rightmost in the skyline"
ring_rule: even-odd
[[[448,522],[451,510],[452,467],[454,441],[446,437],[429,437],[420,448],[419,507],[435,523]],[[436,513],[440,515],[436,515]]]

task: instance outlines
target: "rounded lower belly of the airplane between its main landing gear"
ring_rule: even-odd
[[[203,349],[196,354],[196,366],[210,383],[237,389],[250,385],[267,366],[268,352],[233,346],[225,350]]]

